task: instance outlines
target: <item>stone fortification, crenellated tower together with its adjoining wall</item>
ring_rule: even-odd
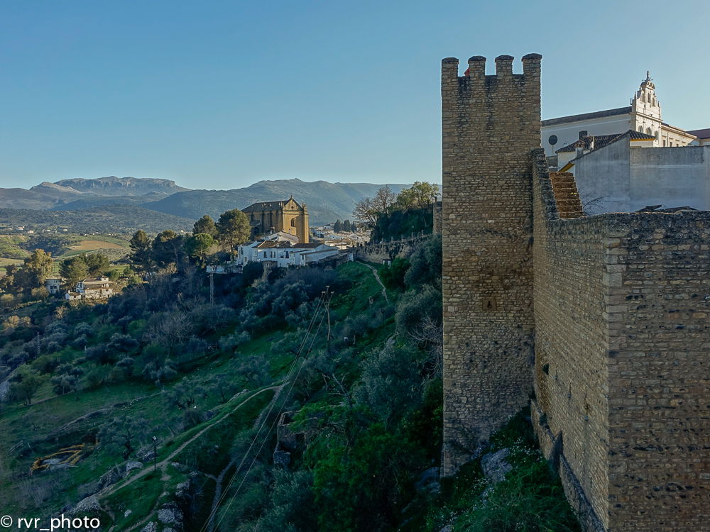
[[[710,212],[583,216],[528,149],[540,57],[497,63],[442,65],[444,475],[534,387],[585,531],[710,531]]]

